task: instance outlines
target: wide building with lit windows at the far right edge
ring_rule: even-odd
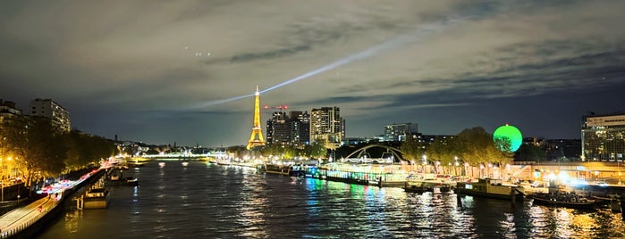
[[[582,116],[582,161],[622,161],[625,155],[625,112]]]

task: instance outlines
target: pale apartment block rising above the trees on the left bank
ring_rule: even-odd
[[[51,99],[37,98],[30,101],[30,115],[51,119],[52,124],[63,131],[72,130],[70,113]]]

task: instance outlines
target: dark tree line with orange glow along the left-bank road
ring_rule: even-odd
[[[64,132],[50,119],[17,116],[0,122],[0,156],[11,155],[15,168],[23,169],[25,185],[56,177],[115,155],[116,144],[78,130]]]

